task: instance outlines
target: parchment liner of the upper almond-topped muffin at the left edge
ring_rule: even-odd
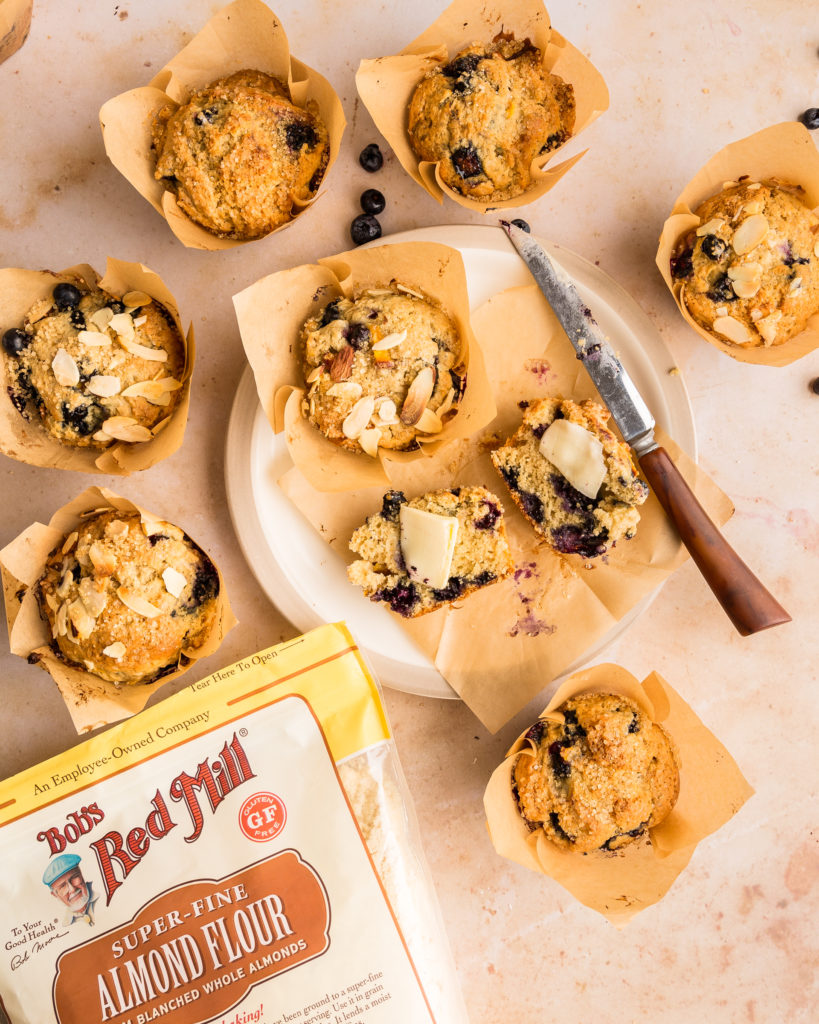
[[[13,366],[13,357],[2,353],[3,386],[0,394],[0,452],[29,463],[31,466],[47,466],[56,469],[74,469],[81,473],[111,473],[126,476],[140,469],[147,469],[167,458],[179,447],[185,433],[187,410],[190,402],[190,378],[193,373],[193,327],[188,327],[185,335],[176,300],[165,283],[154,270],[141,263],[125,263],[109,258],[105,274],[100,280],[96,271],[81,263],[78,266],[52,273],[49,270],[25,270],[8,268],[0,270],[0,325],[2,330],[18,327],[26,313],[38,299],[50,298],[54,285],[70,274],[79,274],[90,287],[99,285],[112,295],[122,296],[126,292],[145,292],[161,302],[173,317],[184,346],[184,372],[179,397],[170,418],[159,433],[149,441],[128,443],[116,441],[111,447],[73,449],[60,444],[43,427],[39,416],[32,414],[25,420],[14,408],[8,394],[11,383],[8,368]],[[162,421],[160,421],[162,422]]]

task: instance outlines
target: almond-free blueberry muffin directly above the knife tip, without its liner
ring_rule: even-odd
[[[481,203],[531,187],[532,162],[569,138],[574,91],[528,39],[501,34],[428,72],[410,101],[410,141],[442,180]]]

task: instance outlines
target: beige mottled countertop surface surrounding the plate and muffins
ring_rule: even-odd
[[[174,456],[127,478],[0,462],[0,546],[100,483],[178,522],[218,562],[240,625],[159,698],[297,633],[248,567],[226,505],[224,436],[245,367],[231,296],[264,273],[349,248],[365,187],[387,198],[385,236],[484,222],[436,204],[389,151],[376,175],[356,159],[380,140],[356,98],[359,59],[397,52],[443,0],[279,0],[272,7],[293,53],[320,70],[344,104],[340,158],[316,207],[288,230],[223,253],[184,249],[107,162],[97,113],[145,84],[219,6],[36,0],[29,40],[0,66],[0,263],[87,262],[101,272],[107,256],[139,260],[196,327],[190,420]],[[611,105],[583,136],[587,156],[517,215],[597,263],[653,321],[688,388],[700,464],[736,505],[725,534],[793,616],[742,639],[687,563],[597,660],[640,678],[662,674],[756,796],[697,848],[661,902],[618,932],[557,884],[500,859],[484,826],[489,774],[551,688],[497,735],[459,701],[387,690],[388,712],[474,1024],[814,1021],[819,395],[809,383],[819,352],[784,369],[726,357],[683,322],[654,254],[676,196],[713,153],[819,105],[816,7],[553,0],[549,9],[602,72]],[[0,678],[3,777],[78,741],[50,678],[9,654],[7,640]]]

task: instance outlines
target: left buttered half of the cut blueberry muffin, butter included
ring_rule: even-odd
[[[407,501],[388,490],[350,540],[347,568],[371,601],[404,618],[434,611],[514,569],[500,501],[484,487],[434,490]]]

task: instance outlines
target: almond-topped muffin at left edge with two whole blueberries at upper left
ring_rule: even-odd
[[[66,276],[2,344],[14,407],[71,447],[150,440],[182,387],[183,339],[144,292],[117,297]]]

